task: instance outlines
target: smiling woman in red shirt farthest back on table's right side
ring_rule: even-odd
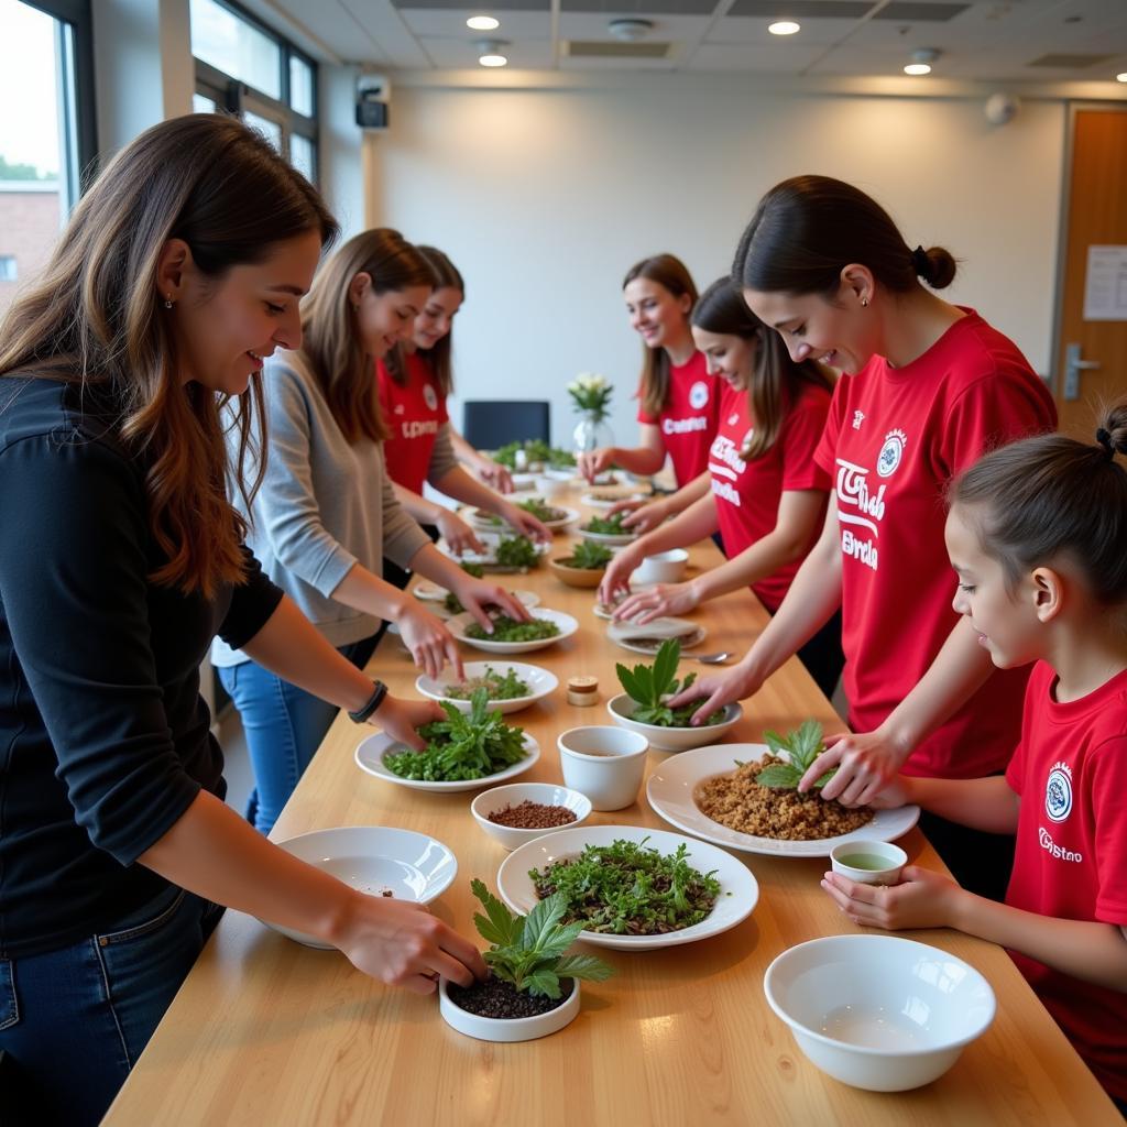
[[[647,532],[708,492],[708,451],[719,420],[720,387],[693,340],[689,314],[696,303],[696,286],[680,258],[644,258],[628,270],[622,294],[645,356],[638,389],[641,442],[629,449],[588,451],[579,455],[578,464],[593,481],[612,465],[630,473],[657,473],[668,455],[678,489],[673,497],[640,508],[627,502],[611,509],[637,508],[625,524]]]

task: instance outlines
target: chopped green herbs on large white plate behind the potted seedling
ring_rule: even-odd
[[[578,857],[532,869],[529,876],[543,903],[562,895],[564,920],[578,922],[584,931],[663,935],[707,919],[720,882],[689,863],[684,844],[663,855],[648,840],[587,845]]]

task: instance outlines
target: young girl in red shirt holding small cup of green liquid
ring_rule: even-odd
[[[955,610],[999,668],[1036,663],[1005,777],[902,775],[873,804],[1017,831],[1005,905],[915,867],[879,893],[828,872],[823,887],[857,923],[1010,948],[1127,1111],[1127,402],[1097,438],[1013,443],[951,489]]]

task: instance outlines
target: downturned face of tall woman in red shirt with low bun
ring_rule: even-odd
[[[870,296],[846,281],[832,302],[816,293],[744,290],[748,309],[779,330],[796,363],[813,358],[842,372],[860,372],[879,352],[877,318],[861,304]]]

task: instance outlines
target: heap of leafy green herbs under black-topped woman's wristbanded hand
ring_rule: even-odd
[[[485,779],[520,763],[527,755],[524,729],[511,728],[500,712],[490,710],[489,695],[478,689],[469,712],[442,703],[445,720],[419,728],[426,740],[421,752],[410,749],[383,756],[383,765],[401,779],[423,782],[462,782]]]

